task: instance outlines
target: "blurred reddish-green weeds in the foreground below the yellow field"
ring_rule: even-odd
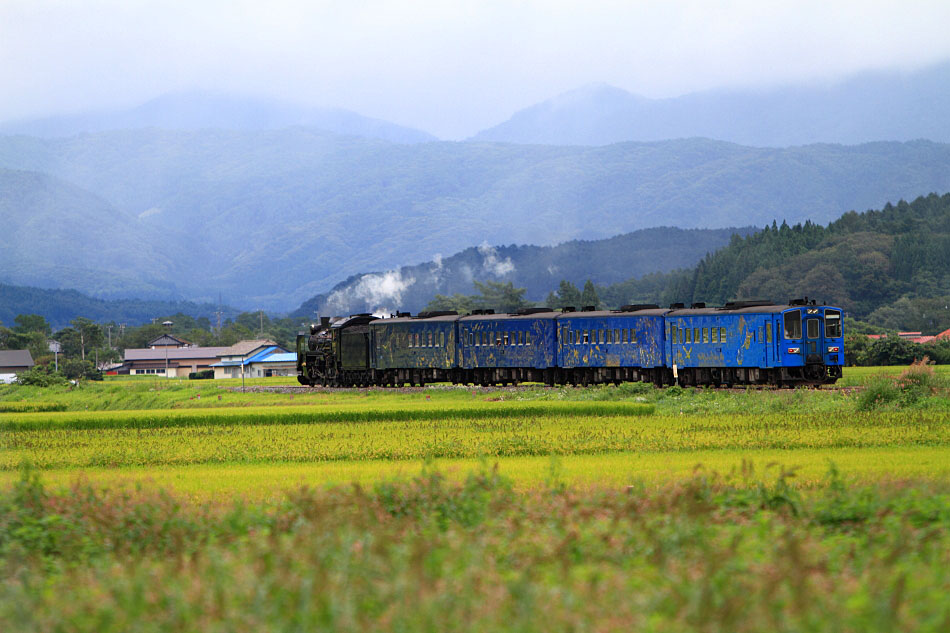
[[[516,491],[483,468],[274,504],[0,496],[0,621],[31,631],[944,631],[950,487],[791,473]],[[68,599],[65,597],[68,596]]]

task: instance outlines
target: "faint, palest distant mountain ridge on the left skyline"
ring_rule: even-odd
[[[201,91],[167,94],[123,110],[11,121],[0,124],[0,133],[66,137],[150,127],[164,130],[275,130],[294,126],[393,143],[436,140],[427,132],[365,117],[350,110]]]

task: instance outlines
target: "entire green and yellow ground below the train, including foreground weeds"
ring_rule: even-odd
[[[950,630],[942,368],[294,383],[0,386],[2,629]]]

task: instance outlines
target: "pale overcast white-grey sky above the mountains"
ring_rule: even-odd
[[[950,1],[0,0],[0,120],[184,89],[462,138],[578,86],[651,97],[950,59]]]

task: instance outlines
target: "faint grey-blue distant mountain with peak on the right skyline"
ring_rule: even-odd
[[[950,142],[950,64],[908,74],[862,73],[834,85],[714,90],[671,99],[589,85],[521,110],[473,140],[607,145],[697,136],[759,147]]]

